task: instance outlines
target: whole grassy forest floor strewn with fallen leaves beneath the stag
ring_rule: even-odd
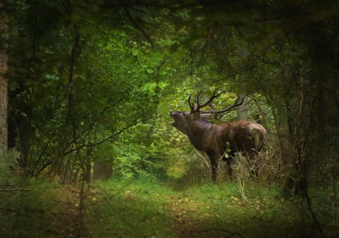
[[[0,191],[0,237],[321,237],[307,204],[281,198],[278,186],[174,185],[32,182]],[[310,196],[324,233],[339,237],[331,189],[314,186]]]

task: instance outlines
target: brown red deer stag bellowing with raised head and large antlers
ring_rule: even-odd
[[[243,152],[249,155],[249,158],[255,160],[258,151],[263,148],[266,137],[266,130],[263,126],[253,121],[221,122],[220,124],[207,121],[212,114],[230,112],[244,102],[244,99],[240,100],[238,97],[234,104],[226,109],[220,111],[213,109],[209,111],[202,110],[203,107],[210,105],[215,97],[218,97],[221,93],[214,93],[203,104],[199,102],[201,92],[198,93],[193,102],[191,102],[191,96],[189,96],[191,112],[169,113],[174,119],[172,126],[189,136],[189,140],[194,147],[197,150],[204,151],[210,157],[213,182],[217,178],[219,159],[222,158],[222,160],[227,161],[228,175],[232,179],[230,165],[234,158],[234,153]]]

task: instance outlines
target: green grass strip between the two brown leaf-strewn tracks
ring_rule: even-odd
[[[88,232],[93,237],[175,237],[170,199],[170,190],[148,180],[96,184],[87,203]]]

